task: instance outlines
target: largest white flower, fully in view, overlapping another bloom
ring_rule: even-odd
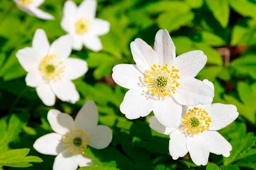
[[[160,30],[154,50],[136,39],[131,42],[131,53],[136,65],[116,65],[112,74],[118,85],[130,89],[120,105],[128,119],[147,116],[153,110],[163,125],[178,127],[181,105],[212,102],[212,89],[194,78],[207,61],[202,51],[175,57],[175,45],[168,31]]]

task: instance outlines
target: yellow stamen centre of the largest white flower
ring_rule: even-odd
[[[152,65],[151,70],[145,71],[142,85],[145,85],[148,91],[154,96],[165,97],[175,94],[176,88],[179,87],[177,80],[179,70],[174,66],[169,70],[168,64],[164,66]]]

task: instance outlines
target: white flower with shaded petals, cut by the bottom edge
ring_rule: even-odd
[[[103,149],[112,141],[111,129],[98,125],[98,110],[93,101],[88,101],[79,111],[75,121],[55,109],[48,112],[47,119],[55,133],[41,136],[33,147],[46,155],[57,155],[53,170],[76,170],[89,166],[91,159],[84,156],[89,145]]]

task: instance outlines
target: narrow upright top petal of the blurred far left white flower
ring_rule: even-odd
[[[40,59],[48,54],[50,44],[43,29],[37,29],[32,41],[32,46],[38,53]]]

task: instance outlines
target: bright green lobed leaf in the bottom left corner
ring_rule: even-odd
[[[29,149],[7,150],[0,153],[0,164],[8,167],[30,167],[30,162],[42,162],[37,156],[26,156]]]

